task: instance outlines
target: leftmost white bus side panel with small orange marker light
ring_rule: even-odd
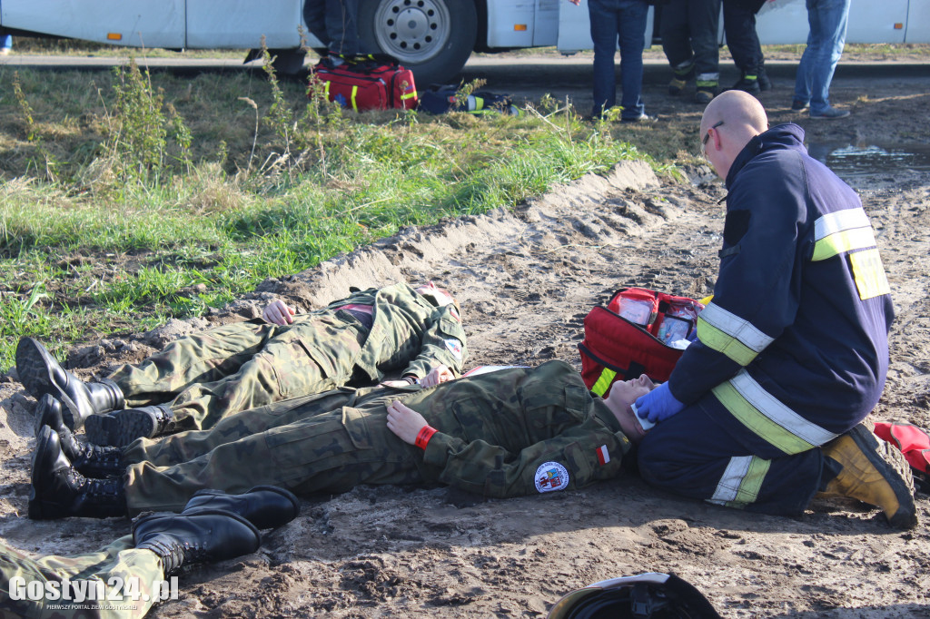
[[[184,0],[3,0],[0,23],[117,46],[184,46]]]

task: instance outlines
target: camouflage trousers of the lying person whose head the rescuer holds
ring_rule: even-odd
[[[397,395],[394,389],[336,389],[244,411],[210,430],[134,441],[124,452],[127,463],[136,463],[126,469],[129,514],[179,511],[204,488],[237,494],[273,484],[314,494],[423,481],[420,450],[387,428],[384,406],[355,408]]]

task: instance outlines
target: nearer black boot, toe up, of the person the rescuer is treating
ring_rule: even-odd
[[[126,516],[126,491],[121,478],[88,480],[77,472],[62,453],[58,434],[45,426],[35,439],[29,517],[49,520],[69,516]]]

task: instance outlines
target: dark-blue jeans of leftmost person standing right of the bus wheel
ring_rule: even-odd
[[[591,39],[594,41],[594,107],[600,116],[617,103],[614,55],[620,44],[620,86],[623,97],[621,118],[643,114],[643,47],[645,19],[649,6],[644,0],[589,0]]]

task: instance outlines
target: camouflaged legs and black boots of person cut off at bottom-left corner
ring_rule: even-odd
[[[185,565],[233,559],[259,548],[259,529],[293,520],[297,498],[281,488],[198,494],[180,514],[147,514],[132,534],[96,552],[32,559],[0,543],[0,617],[132,619],[171,593]],[[157,590],[156,590],[157,587]]]

